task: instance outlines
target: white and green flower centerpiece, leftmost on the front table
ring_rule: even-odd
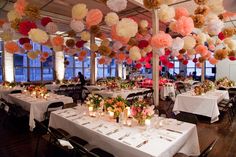
[[[98,95],[93,95],[93,94],[88,95],[85,103],[89,108],[91,108],[91,111],[96,111],[98,109],[102,109],[104,106],[103,98]]]

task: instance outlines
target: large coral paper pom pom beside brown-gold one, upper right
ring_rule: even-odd
[[[194,28],[194,23],[191,17],[180,17],[177,21],[172,23],[171,29],[174,32],[180,33],[182,36],[189,35]]]

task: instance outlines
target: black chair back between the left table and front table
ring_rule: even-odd
[[[48,107],[47,107],[47,111],[45,112],[43,123],[46,126],[48,126],[51,112],[56,111],[58,109],[63,109],[63,108],[64,108],[64,103],[63,102],[53,102],[53,103],[49,104]]]

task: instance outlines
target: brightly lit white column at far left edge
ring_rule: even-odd
[[[13,59],[13,54],[4,52],[3,55],[3,60],[4,60],[4,81],[7,82],[14,82],[14,59]]]

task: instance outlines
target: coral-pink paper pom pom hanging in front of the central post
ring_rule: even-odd
[[[151,45],[156,48],[167,48],[171,46],[172,41],[173,39],[169,34],[160,31],[152,37]]]

